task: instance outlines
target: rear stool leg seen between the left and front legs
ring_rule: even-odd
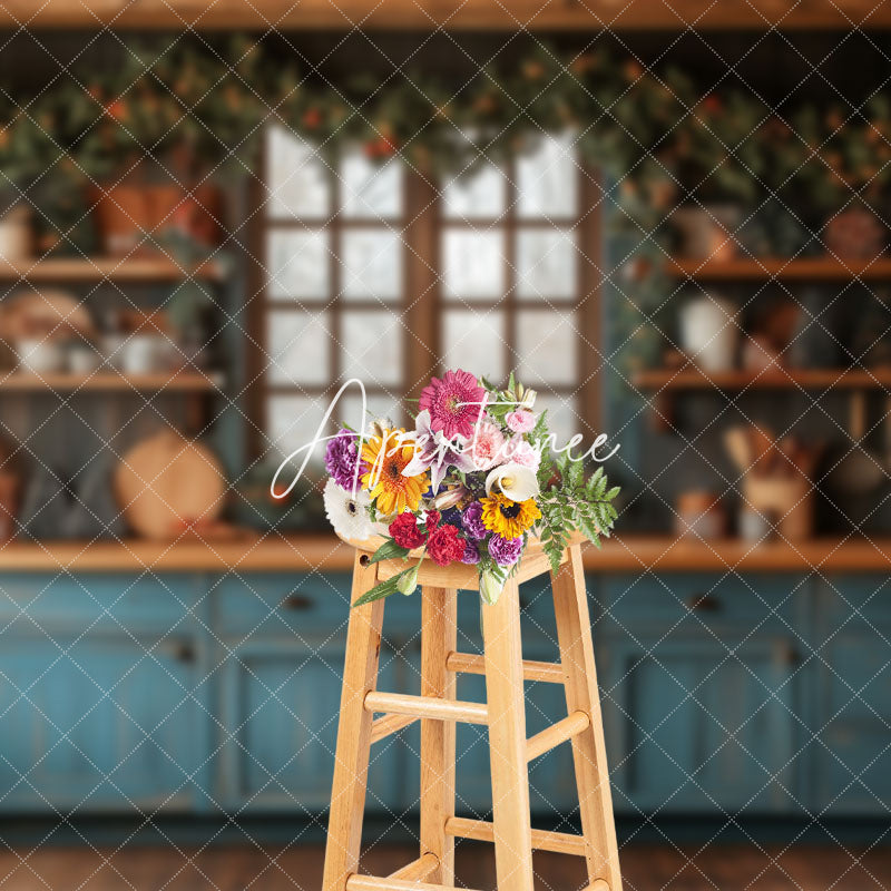
[[[458,591],[424,586],[421,606],[421,695],[456,698],[456,675],[446,659],[458,646]],[[421,719],[421,856],[440,865],[428,879],[454,884],[454,839],[446,821],[454,816],[454,722]]]

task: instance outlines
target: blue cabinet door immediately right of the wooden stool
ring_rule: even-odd
[[[795,806],[790,644],[613,642],[604,677],[615,805],[630,813]],[[789,790],[789,792],[786,791]]]

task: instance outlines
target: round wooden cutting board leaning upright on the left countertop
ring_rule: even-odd
[[[219,517],[226,479],[206,446],[164,430],[124,456],[115,470],[114,488],[134,532],[170,539]]]

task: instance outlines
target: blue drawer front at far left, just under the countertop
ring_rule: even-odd
[[[188,619],[197,603],[199,580],[186,574],[0,575],[0,620],[16,631],[61,624],[127,631],[167,630]],[[33,619],[33,621],[31,621]],[[180,626],[182,627],[182,626]]]

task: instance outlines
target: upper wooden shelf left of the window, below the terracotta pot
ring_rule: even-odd
[[[218,281],[222,270],[217,263],[205,263],[189,272],[167,257],[35,257],[13,262],[0,257],[0,281],[4,282],[180,282],[189,275]]]

